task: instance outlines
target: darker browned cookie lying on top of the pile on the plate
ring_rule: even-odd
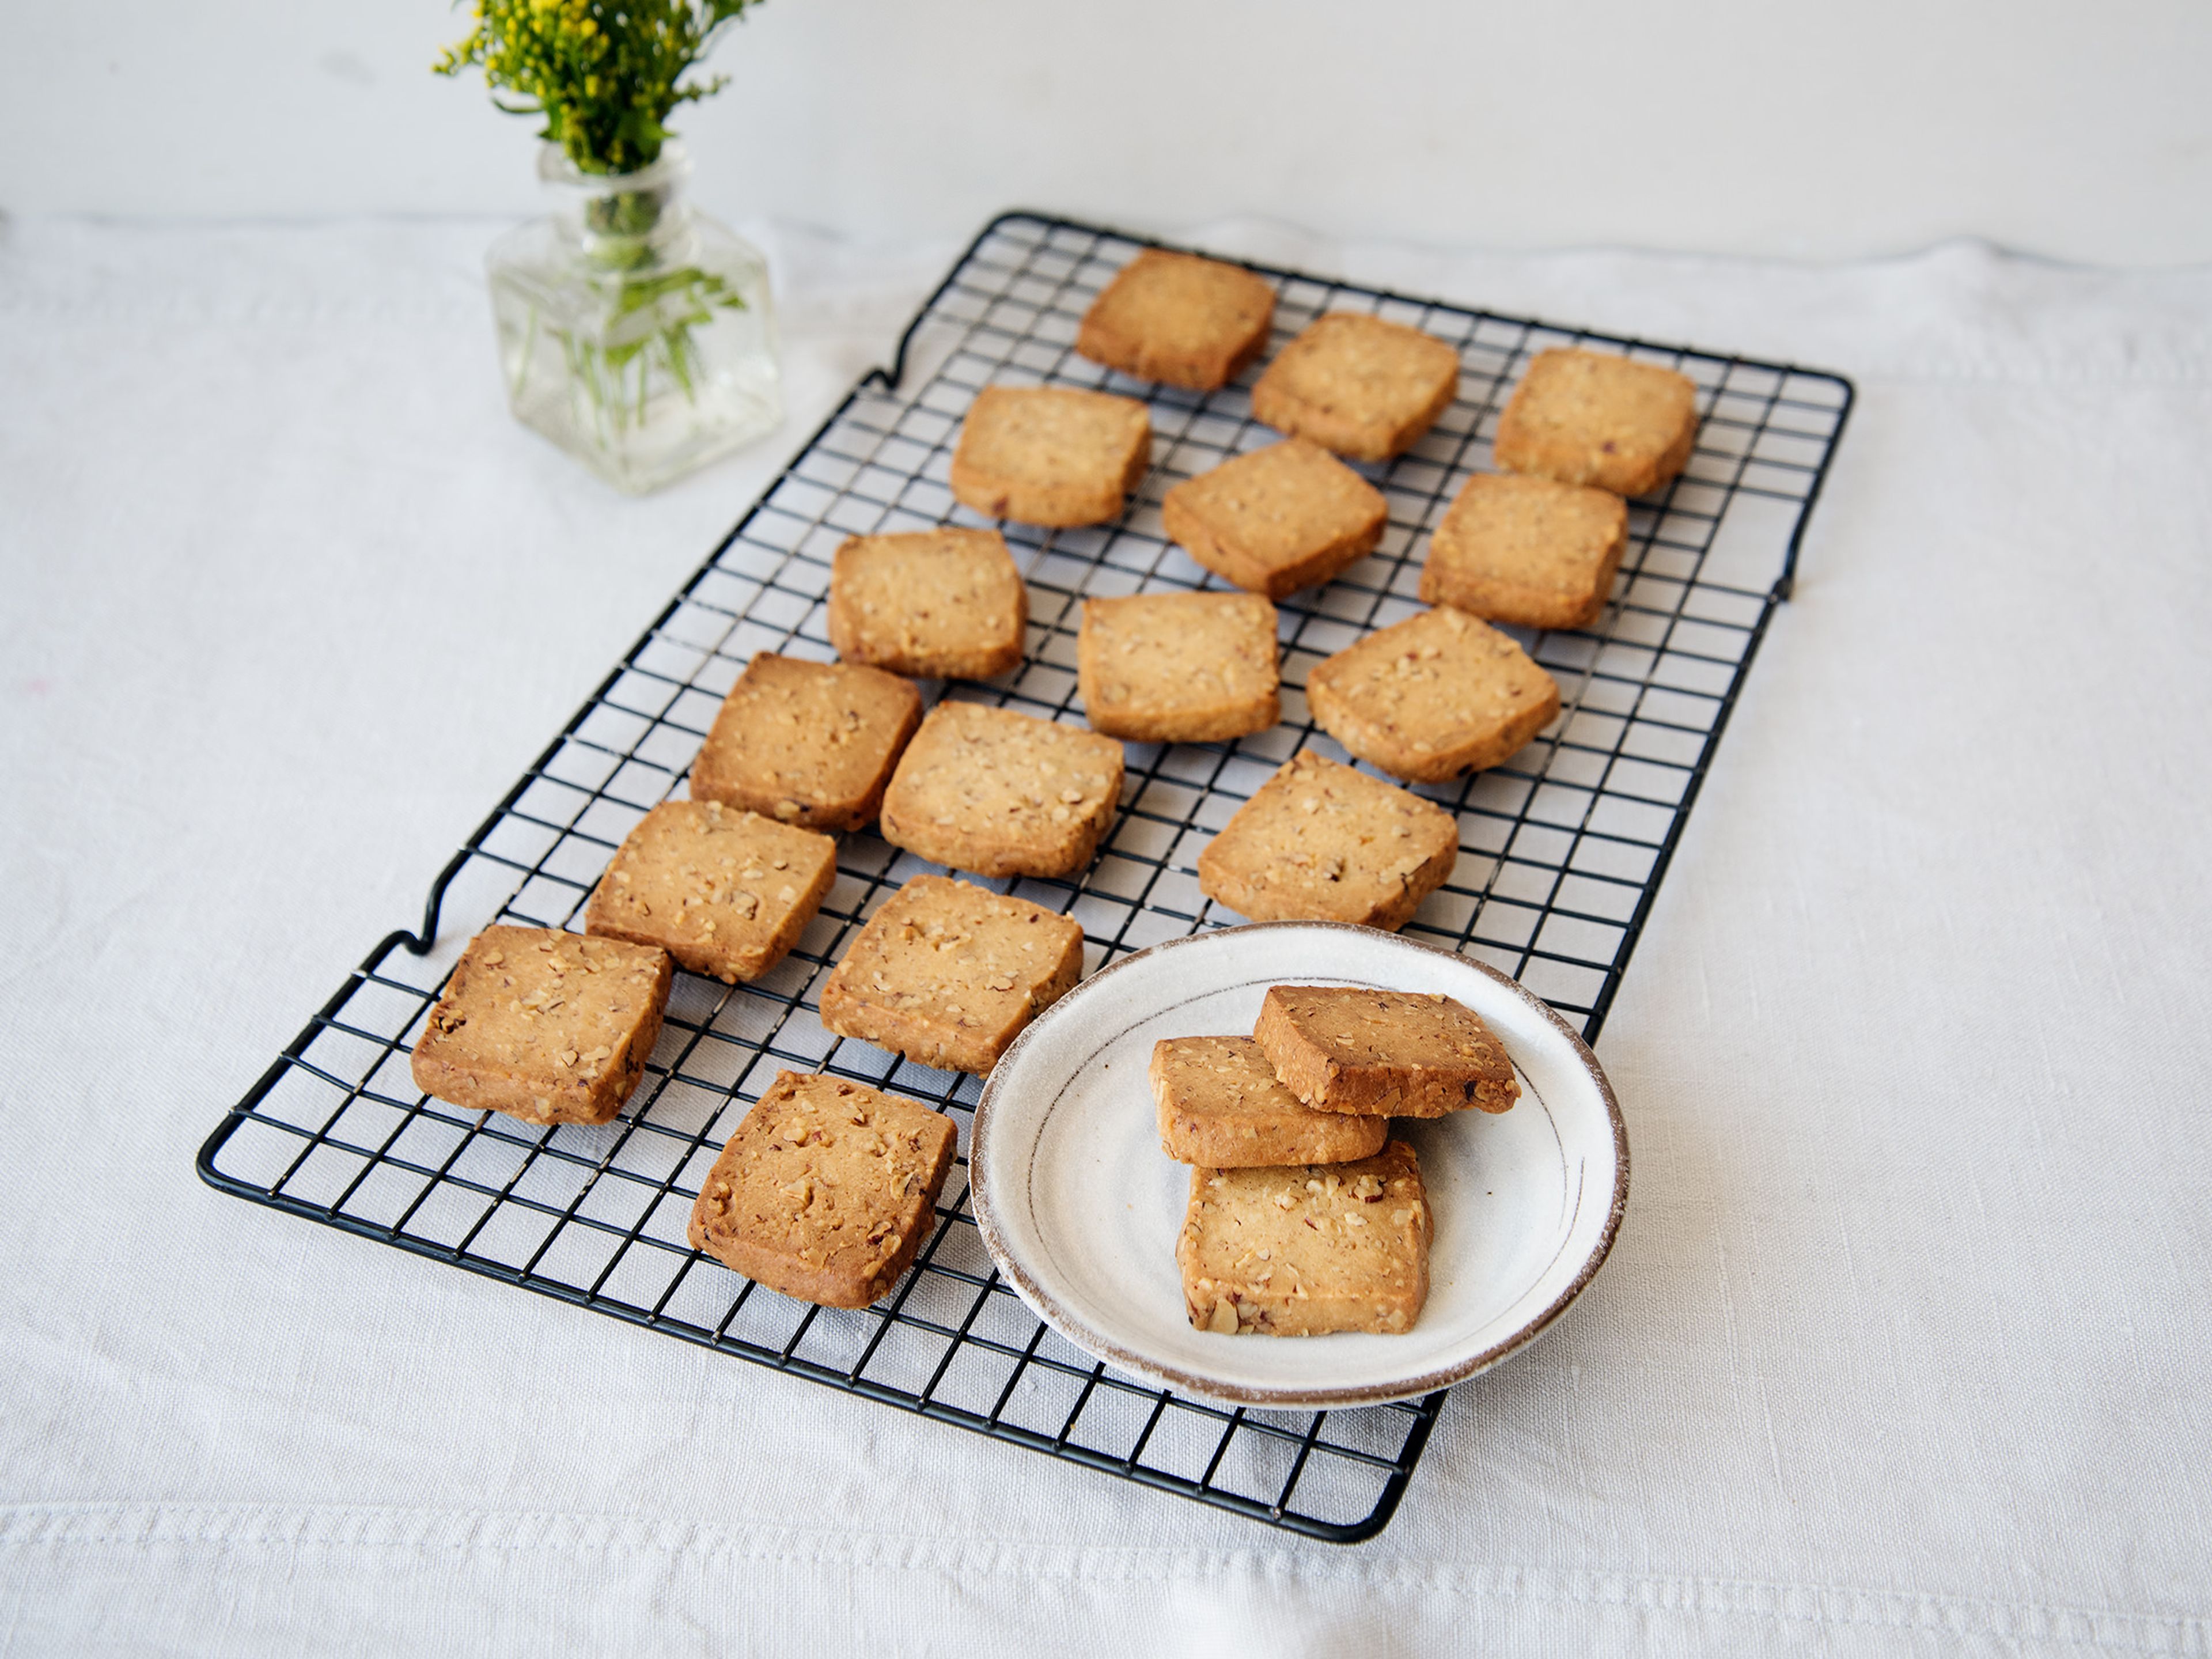
[[[1252,1042],[1316,1113],[1444,1117],[1520,1099],[1498,1033],[1440,991],[1272,984]]]

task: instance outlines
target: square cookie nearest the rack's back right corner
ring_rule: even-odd
[[[1697,385],[1657,363],[1606,352],[1537,352],[1498,418],[1498,465],[1597,484],[1617,495],[1659,489],[1697,445]]]

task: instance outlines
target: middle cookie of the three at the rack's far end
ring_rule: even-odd
[[[1380,316],[1329,312],[1252,387],[1252,414],[1352,460],[1413,447],[1460,394],[1460,354],[1433,334]]]

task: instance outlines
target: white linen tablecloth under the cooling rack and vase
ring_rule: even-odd
[[[630,502],[491,234],[0,237],[0,1652],[2212,1648],[2212,272],[1192,232],[1860,387],[1613,1261],[1332,1548],[192,1177],[956,252],[757,228],[792,418]]]

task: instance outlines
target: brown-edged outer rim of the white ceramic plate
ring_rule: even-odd
[[[1263,1387],[1248,1383],[1217,1383],[1206,1376],[1192,1376],[1172,1365],[1148,1360],[1139,1354],[1133,1354],[1113,1338],[1104,1336],[1102,1332],[1095,1332],[1086,1321],[1068,1314],[1051,1296],[1051,1292],[1037,1285],[1035,1279],[1029,1274],[1029,1270],[1006,1248],[1006,1241],[998,1225],[998,1214],[993,1212],[991,1206],[993,1166],[989,1155],[991,1148],[989,1126],[993,1108],[998,1104],[1000,1079],[1011,1075],[1011,1062],[1022,1053],[1022,1048],[1035,1035],[1037,1026],[1044,1024],[1044,1020],[1055,1009],[1066,1006],[1066,1002],[1073,1000],[1077,993],[1082,993],[1086,987],[1099,984],[1102,980],[1106,980],[1113,973],[1119,973],[1133,962],[1144,962],[1146,958],[1161,956],[1175,949],[1186,949],[1190,945],[1221,938],[1225,933],[1259,933],[1272,929],[1303,929],[1303,931],[1325,929],[1340,933],[1367,933],[1374,938],[1389,940],[1394,945],[1402,945],[1411,951],[1429,951],[1431,956],[1442,956],[1464,967],[1471,967],[1478,973],[1489,975],[1495,984],[1504,987],[1513,995],[1517,995],[1522,1002],[1535,1009],[1562,1037],[1566,1037],[1577,1064],[1588,1073],[1590,1082],[1597,1084],[1597,1095],[1606,1104],[1606,1121],[1608,1128],[1613,1130],[1613,1201],[1606,1208],[1606,1221],[1599,1228],[1597,1243],[1593,1245],[1588,1259],[1575,1270],[1575,1276],[1566,1285],[1566,1290],[1562,1290],[1544,1310],[1540,1310],[1533,1318],[1522,1323],[1506,1338],[1480,1349],[1469,1358],[1453,1360],[1451,1365],[1436,1367],[1431,1371],[1425,1371],[1416,1378],[1407,1378],[1400,1383],[1369,1383],[1358,1387],[1307,1389],[1307,1387]],[[1124,956],[1119,962],[1108,962],[1097,973],[1077,982],[1064,998],[1044,1009],[1026,1026],[1022,1026],[1020,1035],[1015,1035],[1015,1040],[1006,1046],[1006,1053],[1002,1053],[998,1057],[998,1064],[991,1066],[991,1075],[984,1077],[982,1093],[975,1099],[975,1113],[969,1128],[969,1210],[973,1210],[975,1214],[975,1230],[982,1234],[984,1252],[989,1252],[991,1263],[1006,1276],[1006,1283],[1013,1285],[1013,1292],[1031,1307],[1031,1312],[1037,1314],[1037,1318],[1042,1318],[1046,1325],[1060,1332],[1060,1336],[1064,1336],[1068,1343],[1073,1343],[1095,1360],[1104,1360],[1106,1365],[1133,1371],[1135,1376],[1159,1383],[1168,1389],[1175,1389],[1177,1394],[1188,1394],[1192,1398],[1212,1400],[1219,1405],[1279,1409],[1279,1411],[1290,1411],[1290,1409],[1332,1411],[1340,1407],[1391,1405],[1396,1400],[1413,1400],[1425,1394],[1447,1389],[1453,1383],[1464,1383],[1467,1378],[1478,1376],[1480,1371],[1486,1371],[1493,1365],[1511,1358],[1520,1349],[1535,1343],[1546,1329],[1551,1329],[1551,1325],[1559,1318],[1559,1314],[1564,1314],[1575,1303],[1575,1298],[1582,1296],[1584,1290],[1588,1290],[1590,1281],[1597,1276],[1597,1270],[1604,1267],[1606,1259],[1613,1254],[1613,1243],[1621,1230],[1621,1217],[1628,1210],[1628,1124],[1621,1117],[1621,1104],[1613,1093],[1613,1082],[1606,1077],[1606,1068],[1597,1064],[1597,1055],[1590,1053],[1590,1044],[1582,1040],[1582,1033],[1575,1031],[1566,1022],[1566,1018],[1557,1009],[1553,1009],[1544,998],[1540,998],[1535,991],[1524,987],[1513,975],[1491,967],[1489,962],[1482,962],[1473,956],[1464,956],[1460,951],[1447,951],[1436,945],[1425,945],[1422,940],[1411,940],[1400,933],[1387,933],[1380,927],[1363,927],[1358,922],[1332,922],[1332,920],[1241,922],[1237,927],[1210,927],[1203,933],[1183,933],[1181,938],[1161,940],[1159,945],[1148,945],[1141,951],[1133,951]]]

